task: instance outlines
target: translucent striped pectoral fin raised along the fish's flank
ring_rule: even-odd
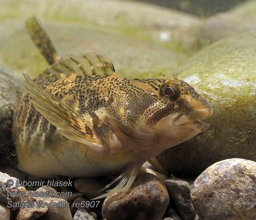
[[[31,78],[24,74],[21,83],[30,94],[36,110],[38,110],[63,136],[90,147],[98,145],[93,131],[90,129],[91,117],[87,113],[75,110],[56,100],[49,92],[39,87]]]

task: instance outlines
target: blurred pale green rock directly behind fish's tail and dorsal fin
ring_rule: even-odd
[[[48,23],[43,26],[51,36],[57,51],[62,55],[96,52],[107,54],[116,72],[126,78],[162,77],[162,72],[177,68],[188,59],[183,53],[161,48],[129,37],[120,37],[97,28]],[[31,39],[22,30],[6,41],[0,42],[0,50],[8,52],[0,57],[6,67],[18,76],[21,71],[37,76],[47,63]],[[22,42],[17,43],[17,42]]]

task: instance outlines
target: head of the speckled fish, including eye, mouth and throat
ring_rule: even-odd
[[[145,80],[143,83],[144,98],[152,101],[141,101],[137,107],[147,103],[137,119],[140,129],[136,133],[144,139],[138,137],[137,145],[131,144],[140,155],[155,157],[210,127],[205,119],[213,114],[212,107],[188,83],[178,79],[149,80],[148,86]]]

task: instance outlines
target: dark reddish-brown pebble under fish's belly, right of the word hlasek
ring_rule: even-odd
[[[92,177],[77,178],[74,184],[75,188],[89,199],[99,196],[100,193],[98,191],[105,186],[97,178]]]

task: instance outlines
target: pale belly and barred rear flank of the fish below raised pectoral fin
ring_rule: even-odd
[[[124,168],[134,155],[120,146],[89,149],[61,135],[33,106],[22,98],[14,115],[13,139],[19,168],[40,177],[103,176]]]

